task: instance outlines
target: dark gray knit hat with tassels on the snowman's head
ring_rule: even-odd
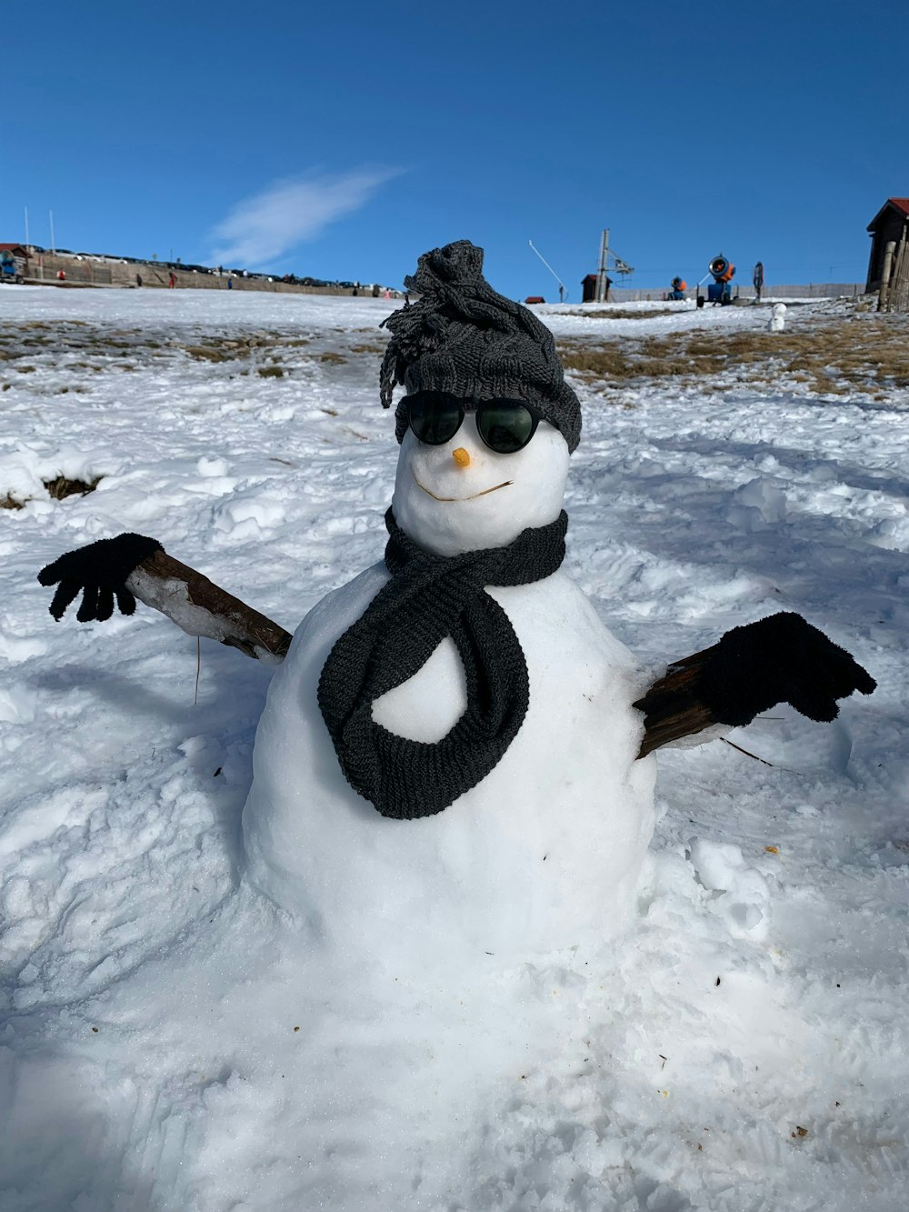
[[[482,276],[482,248],[458,240],[424,252],[404,284],[419,299],[383,325],[391,330],[379,379],[384,408],[398,383],[408,394],[526,400],[555,425],[570,451],[577,447],[581,405],[565,382],[553,335],[527,308],[492,290]],[[399,442],[406,431],[407,413],[399,404]]]

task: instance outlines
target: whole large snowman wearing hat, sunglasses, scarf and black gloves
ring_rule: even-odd
[[[787,701],[831,720],[873,679],[796,614],[650,687],[562,571],[581,408],[551,333],[468,241],[419,258],[385,321],[400,456],[384,559],[291,638],[126,534],[42,570],[56,618],[114,598],[280,659],[244,811],[252,884],[331,954],[510,964],[621,931],[653,829],[653,749]]]

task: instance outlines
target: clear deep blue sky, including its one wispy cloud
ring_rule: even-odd
[[[399,285],[467,238],[492,284],[863,281],[909,195],[905,0],[21,0],[0,240]]]

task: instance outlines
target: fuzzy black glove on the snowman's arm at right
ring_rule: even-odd
[[[742,727],[777,703],[810,720],[835,720],[837,698],[877,685],[845,648],[801,614],[771,614],[736,627],[708,648],[698,698],[719,724]]]

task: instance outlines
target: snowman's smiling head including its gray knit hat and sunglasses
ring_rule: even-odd
[[[419,258],[419,301],[385,321],[382,402],[401,442],[393,510],[438,555],[503,547],[555,521],[581,406],[553,335],[482,276],[467,240]]]

